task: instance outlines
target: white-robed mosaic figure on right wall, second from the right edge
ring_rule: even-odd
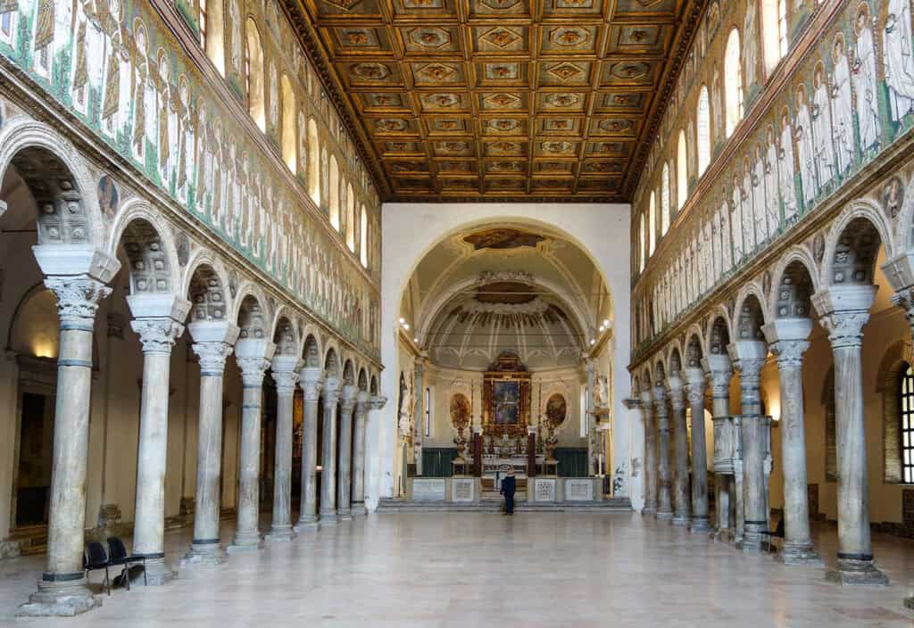
[[[869,5],[861,3],[854,20],[856,33],[854,89],[856,90],[856,114],[860,125],[860,148],[864,155],[878,148],[882,135],[879,121],[878,83],[876,74],[876,45],[870,24]]]

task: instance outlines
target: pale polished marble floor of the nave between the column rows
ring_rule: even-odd
[[[816,536],[834,562],[834,526]],[[189,538],[168,533],[172,560]],[[0,625],[914,626],[902,605],[914,541],[876,535],[874,549],[891,586],[850,589],[637,514],[390,514],[182,570],[163,587],[115,590],[68,619],[14,619],[43,557],[0,561]]]

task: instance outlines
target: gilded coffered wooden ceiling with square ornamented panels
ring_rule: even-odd
[[[285,2],[388,200],[629,200],[702,5]]]

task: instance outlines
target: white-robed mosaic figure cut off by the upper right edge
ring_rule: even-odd
[[[911,41],[910,0],[888,0],[883,64],[888,88],[888,112],[893,122],[914,109],[914,52]],[[898,129],[901,132],[901,129]]]

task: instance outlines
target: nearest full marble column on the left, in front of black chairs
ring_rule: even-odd
[[[48,554],[38,590],[17,610],[17,614],[27,616],[75,615],[101,606],[101,599],[93,597],[87,586],[82,551],[86,528],[92,333],[99,302],[112,290],[91,275],[45,277],[45,286],[58,299],[57,406],[48,499]]]

